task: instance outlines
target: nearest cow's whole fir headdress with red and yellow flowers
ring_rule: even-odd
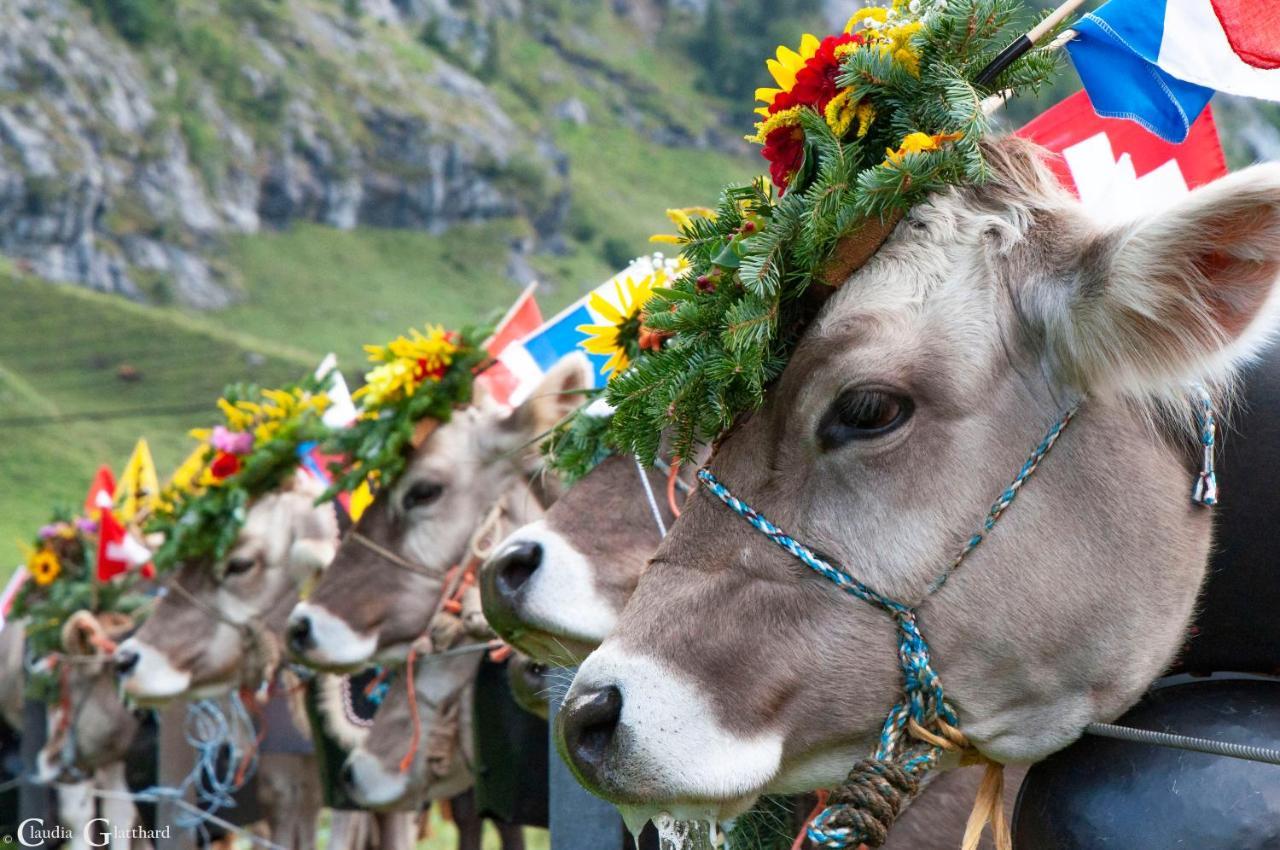
[[[1057,68],[1047,50],[992,64],[1030,23],[1020,0],[896,0],[859,10],[844,32],[778,47],[749,137],[769,175],[678,221],[689,270],[644,306],[637,324],[659,342],[611,379],[608,440],[652,462],[669,429],[687,461],[758,407],[823,293],[906,210],[984,182],[983,99],[1036,88]],[[584,440],[600,431],[571,424],[549,453],[598,457]],[[566,434],[570,451],[557,451]]]

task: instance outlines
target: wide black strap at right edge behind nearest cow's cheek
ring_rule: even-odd
[[[1219,434],[1213,556],[1174,672],[1280,675],[1280,344],[1245,370],[1243,388]]]

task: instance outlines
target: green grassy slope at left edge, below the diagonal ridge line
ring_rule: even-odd
[[[161,469],[189,449],[228,379],[293,380],[312,357],[175,312],[0,274],[0,565],[100,463],[146,437]],[[137,412],[145,415],[136,415]]]

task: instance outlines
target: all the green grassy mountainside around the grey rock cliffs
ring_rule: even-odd
[[[291,0],[298,14],[321,1]],[[115,6],[88,5],[102,37],[145,58],[156,77],[172,63],[179,96],[195,97],[204,81],[230,104],[232,115],[252,118],[247,127],[255,136],[270,138],[274,116],[247,111],[233,74],[237,61],[250,70],[261,61],[244,54],[236,33],[283,26],[288,4],[220,0],[183,17],[177,29],[142,22],[150,27],[143,38],[120,29],[108,14]],[[270,19],[253,17],[269,6]],[[746,146],[733,142],[749,128],[749,104],[705,91],[707,76],[684,29],[668,26],[639,38],[609,4],[545,6],[536,19],[530,13],[490,22],[494,50],[474,70],[522,136],[544,140],[564,159],[558,184],[532,165],[524,168],[518,156],[495,178],[521,198],[520,209],[541,209],[563,192],[554,245],[526,255],[549,315],[627,259],[654,250],[648,236],[671,229],[666,207],[713,202],[726,182],[749,177],[758,165]],[[383,61],[402,88],[412,90],[416,74],[453,59],[428,32],[369,19],[352,27],[361,33],[362,52],[346,60],[288,54],[289,84],[324,92],[330,74],[356,86],[372,78],[371,63]],[[425,87],[412,91],[433,96]],[[347,122],[349,108],[328,97],[316,102],[339,124]],[[582,115],[556,118],[566,101],[580,104]],[[726,118],[731,111],[740,114]],[[212,143],[218,128],[200,120],[189,114],[180,131],[215,186],[227,160]],[[721,132],[723,143],[681,142],[716,127],[730,128]],[[211,143],[201,145],[202,138]],[[115,204],[106,225],[124,236],[169,234],[129,204]],[[38,280],[23,262],[3,266],[0,575],[18,559],[17,540],[29,539],[55,506],[79,504],[100,463],[119,471],[138,437],[150,440],[161,474],[172,469],[189,445],[186,431],[209,422],[225,383],[296,379],[329,351],[357,378],[362,343],[412,324],[460,324],[500,311],[520,291],[508,268],[509,246],[529,241],[532,229],[524,216],[454,224],[443,233],[364,224],[339,230],[296,220],[251,236],[215,236],[212,247],[201,250],[236,296],[219,310],[179,306],[164,275],[147,279],[152,303],[142,305]]]

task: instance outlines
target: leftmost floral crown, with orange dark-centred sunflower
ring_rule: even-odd
[[[27,620],[27,650],[33,658],[61,650],[63,623],[77,611],[132,614],[146,602],[136,590],[136,572],[96,580],[97,535],[97,520],[59,511],[24,547],[29,579],[14,597],[12,616]],[[54,680],[37,675],[32,685],[37,696],[56,695]]]

